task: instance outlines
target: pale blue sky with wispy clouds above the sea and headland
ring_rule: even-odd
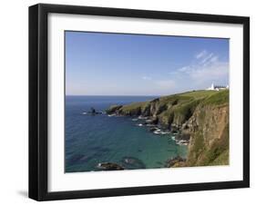
[[[228,82],[228,39],[66,32],[67,95],[167,95]]]

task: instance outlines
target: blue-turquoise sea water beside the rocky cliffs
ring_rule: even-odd
[[[91,107],[104,112],[112,104],[144,102],[145,96],[67,96],[66,172],[98,171],[100,162],[115,162],[125,169],[163,168],[172,157],[186,157],[187,147],[171,134],[157,135],[131,117],[83,114]],[[125,164],[132,159],[133,164]]]

